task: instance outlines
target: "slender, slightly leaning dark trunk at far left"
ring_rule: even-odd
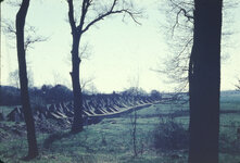
[[[24,111],[24,120],[27,128],[28,155],[26,159],[33,159],[38,154],[37,140],[35,135],[35,124],[31,114],[28,86],[27,86],[27,71],[24,49],[24,26],[29,0],[23,0],[20,11],[16,14],[16,48],[20,70],[20,86],[21,86],[21,101]]]

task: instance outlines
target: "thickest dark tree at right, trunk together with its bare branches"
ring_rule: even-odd
[[[189,82],[189,162],[215,163],[218,162],[220,38],[222,34],[226,34],[222,33],[223,0],[194,0],[190,3],[170,0],[170,2],[176,15],[172,34],[176,34],[176,28],[189,29],[190,34],[186,35],[190,36],[187,41],[179,41],[187,38],[186,36],[178,38],[177,43],[185,42],[186,46],[180,46],[180,50],[175,52],[177,55],[170,60],[169,70],[165,71],[168,74],[172,71],[174,77],[181,77],[181,74],[185,74],[182,82]],[[225,7],[230,5],[225,3]],[[179,21],[179,15],[185,17],[184,24],[189,22],[190,28],[179,25],[182,21],[182,18]],[[180,64],[182,61],[186,61],[184,66]]]

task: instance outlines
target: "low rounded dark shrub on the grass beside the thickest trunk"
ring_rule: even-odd
[[[189,133],[174,121],[161,122],[153,130],[153,141],[159,150],[188,149]]]

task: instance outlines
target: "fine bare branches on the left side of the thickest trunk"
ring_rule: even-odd
[[[193,35],[193,1],[192,0],[166,0],[167,9],[165,10],[166,28],[165,33],[170,52],[162,61],[162,65],[154,72],[164,74],[166,83],[175,84],[179,90],[188,86],[189,57],[192,46]],[[173,21],[174,20],[174,21]]]

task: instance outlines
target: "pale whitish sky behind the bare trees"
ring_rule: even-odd
[[[99,22],[83,36],[83,45],[88,45],[89,59],[83,60],[80,75],[83,80],[92,78],[100,92],[121,91],[137,85],[147,91],[175,89],[176,85],[169,83],[165,75],[152,71],[161,66],[172,49],[166,43],[166,32],[161,28],[166,18],[160,12],[163,3],[139,0],[137,5],[144,8],[144,16],[139,18],[141,25],[127,17],[123,22],[123,16],[116,15]],[[1,21],[14,21],[17,10],[17,7],[3,2]],[[240,8],[228,14],[230,18],[227,20],[231,20],[235,33],[227,39],[230,46],[223,47],[222,90],[235,89],[238,76],[240,78]],[[71,88],[72,36],[67,3],[64,0],[31,1],[26,21],[36,27],[37,35],[48,38],[27,50],[27,66],[35,86],[63,84]],[[229,24],[224,24],[225,27],[229,28]],[[15,40],[1,30],[1,85],[10,84],[9,73],[16,68]]]

